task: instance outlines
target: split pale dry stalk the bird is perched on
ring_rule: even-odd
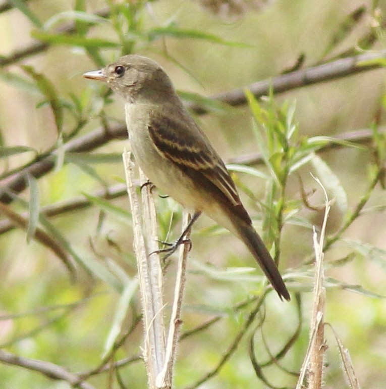
[[[170,318],[168,339],[165,339],[164,303],[162,298],[163,278],[158,250],[157,222],[150,185],[140,170],[142,185],[142,209],[134,185],[134,163],[131,154],[126,151],[123,160],[126,172],[127,190],[133,218],[134,251],[137,258],[138,277],[140,283],[144,349],[148,386],[150,389],[172,387],[173,368],[178,344],[178,332],[181,326],[181,308],[185,286],[186,260],[189,245],[181,245],[179,251],[178,270],[176,275],[175,296]],[[188,225],[188,215],[184,216],[182,231]],[[189,238],[188,234],[186,236]]]

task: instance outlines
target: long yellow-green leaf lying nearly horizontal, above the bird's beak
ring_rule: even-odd
[[[45,43],[68,44],[71,46],[80,46],[85,48],[117,48],[121,46],[120,43],[101,38],[85,38],[77,35],[50,34],[42,31],[32,31],[31,36]]]

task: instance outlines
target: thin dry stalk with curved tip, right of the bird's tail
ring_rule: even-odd
[[[317,233],[314,229],[313,245],[315,251],[315,281],[314,281],[314,305],[312,312],[310,341],[308,349],[300,371],[296,389],[304,387],[305,378],[307,379],[308,389],[320,389],[323,379],[323,357],[326,350],[324,343],[324,313],[325,313],[325,288],[323,286],[323,244],[325,237],[325,229],[327,225],[328,213],[330,210],[330,202],[328,201],[327,193],[321,182],[315,178],[321,186],[325,197],[325,212],[320,238],[318,241]]]

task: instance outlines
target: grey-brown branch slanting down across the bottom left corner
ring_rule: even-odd
[[[38,371],[51,379],[60,379],[69,382],[71,385],[78,384],[81,389],[95,389],[87,382],[79,382],[79,377],[64,367],[51,362],[40,361],[38,359],[24,358],[16,354],[0,350],[0,361],[10,365],[21,366],[29,370]]]

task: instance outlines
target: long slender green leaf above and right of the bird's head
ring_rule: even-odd
[[[170,36],[173,38],[180,38],[180,39],[181,38],[203,39],[212,43],[224,44],[233,47],[241,47],[241,48],[253,47],[253,45],[251,44],[229,41],[220,38],[217,35],[208,34],[206,32],[202,32],[199,30],[188,30],[188,29],[182,29],[182,28],[171,27],[171,26],[154,28],[147,33],[147,36],[150,41],[163,38],[164,36]]]

